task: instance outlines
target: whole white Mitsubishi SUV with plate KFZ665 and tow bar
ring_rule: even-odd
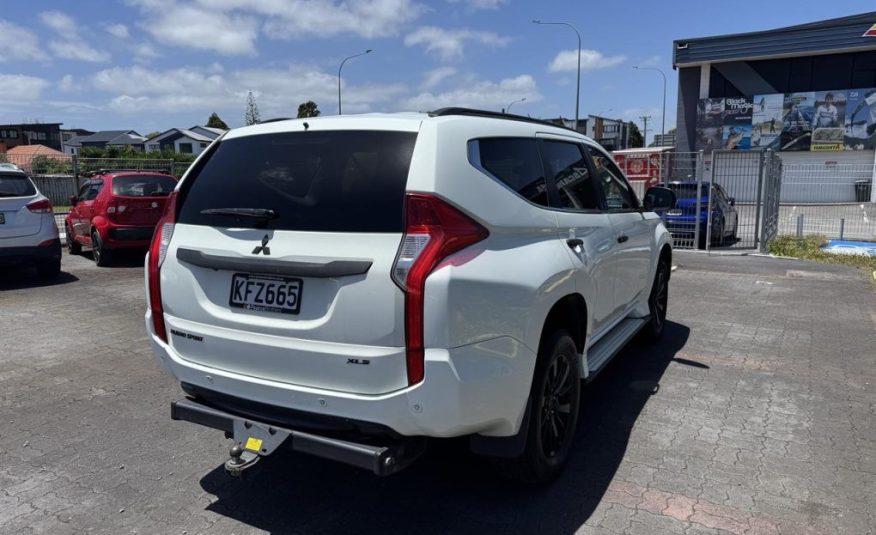
[[[248,126],[170,199],[146,327],[188,395],[172,417],[233,437],[232,474],[285,445],[385,475],[426,437],[470,436],[547,481],[581,380],[663,331],[669,234],[601,147],[549,123],[447,108]]]

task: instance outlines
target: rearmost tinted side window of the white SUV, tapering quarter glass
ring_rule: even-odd
[[[547,206],[544,170],[535,138],[489,138],[477,141],[485,169],[529,202]]]

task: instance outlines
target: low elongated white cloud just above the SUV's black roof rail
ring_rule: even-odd
[[[541,100],[535,79],[528,74],[499,82],[469,81],[456,89],[438,94],[424,91],[406,99],[402,107],[413,111],[434,110],[446,106],[501,109],[509,102],[521,98],[526,98],[527,102]]]

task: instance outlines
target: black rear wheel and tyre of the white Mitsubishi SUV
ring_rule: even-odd
[[[539,348],[530,403],[523,455],[494,459],[494,465],[506,477],[544,484],[562,471],[578,425],[581,376],[575,342],[566,331],[555,332]]]

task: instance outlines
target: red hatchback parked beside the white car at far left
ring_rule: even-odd
[[[91,247],[98,266],[118,249],[146,249],[176,179],[155,171],[102,171],[70,198],[65,218],[67,249]]]

